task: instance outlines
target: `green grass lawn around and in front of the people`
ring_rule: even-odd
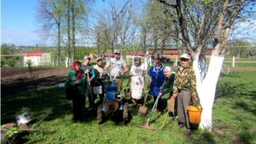
[[[124,86],[128,76],[125,77]],[[57,86],[2,97],[1,124],[16,123],[15,117],[23,112],[28,112],[31,118],[49,114],[42,124],[35,127],[40,131],[19,131],[15,140],[17,143],[256,143],[255,87],[256,72],[231,71],[228,75],[221,74],[212,109],[212,132],[195,130],[190,136],[184,135],[185,129],[177,129],[176,122],[170,124],[170,116],[164,129],[160,130],[166,109],[162,116],[154,113],[150,118],[150,126],[156,130],[137,126],[146,123],[153,107],[152,97],[148,98],[146,117],[138,116],[138,107],[128,107],[128,124],[111,117],[103,124],[97,124],[96,116],[90,112],[84,113],[85,122],[73,123],[72,101],[67,101],[64,89]],[[163,99],[164,107],[166,97]],[[131,101],[124,101],[131,104]],[[88,99],[86,102],[88,107]]]

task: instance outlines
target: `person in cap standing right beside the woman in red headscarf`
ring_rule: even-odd
[[[95,72],[93,66],[90,65],[90,55],[84,55],[84,63],[81,66],[81,69],[85,72],[85,77],[87,78],[87,96],[89,98],[90,106],[88,111],[93,109],[95,97],[92,91],[93,78],[95,78]]]

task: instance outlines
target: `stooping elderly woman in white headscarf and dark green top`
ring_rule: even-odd
[[[164,75],[165,75],[165,84],[161,88],[159,96],[164,96],[168,95],[168,99],[172,97],[173,93],[173,83],[174,83],[174,78],[175,78],[175,72],[172,72],[172,68],[170,66],[166,66],[164,69]],[[161,105],[161,104],[160,104]],[[177,116],[177,99],[175,99],[174,103],[174,116]],[[161,107],[161,106],[160,106]]]

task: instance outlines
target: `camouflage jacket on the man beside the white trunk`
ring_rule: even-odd
[[[192,96],[196,96],[196,79],[195,71],[189,65],[180,70],[180,66],[177,67],[177,72],[173,84],[173,93],[177,93],[178,90],[191,91]]]

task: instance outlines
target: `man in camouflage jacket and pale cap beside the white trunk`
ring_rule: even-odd
[[[181,66],[178,66],[173,84],[172,97],[177,97],[177,117],[178,127],[186,126],[185,135],[191,135],[192,130],[189,125],[187,107],[192,101],[197,101],[195,71],[189,66],[190,56],[183,54],[180,56]]]

